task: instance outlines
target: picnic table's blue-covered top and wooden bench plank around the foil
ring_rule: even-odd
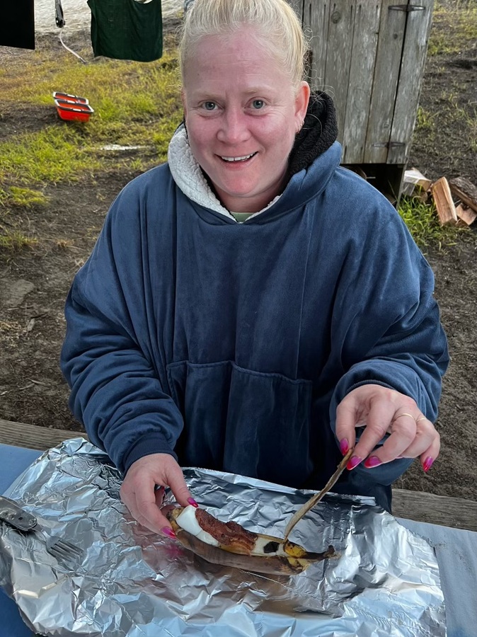
[[[46,449],[84,432],[0,419],[0,493]],[[393,515],[435,547],[446,603],[448,637],[477,634],[477,503],[393,490]],[[32,637],[13,600],[0,590],[0,637]]]

